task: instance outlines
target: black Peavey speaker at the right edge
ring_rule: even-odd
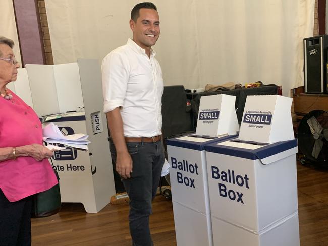
[[[304,38],[304,87],[305,93],[327,91],[328,35]]]

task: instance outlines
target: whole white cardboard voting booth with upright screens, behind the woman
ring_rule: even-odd
[[[60,177],[62,202],[80,202],[87,212],[99,212],[110,203],[115,185],[98,60],[26,65],[15,91],[32,104],[43,124],[53,122],[64,135],[89,136],[88,151],[58,150],[51,162]]]

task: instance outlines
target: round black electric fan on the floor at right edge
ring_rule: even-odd
[[[305,159],[314,163],[327,162],[328,113],[322,110],[307,113],[300,121],[297,138]]]

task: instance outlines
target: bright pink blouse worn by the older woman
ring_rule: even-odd
[[[11,100],[0,97],[0,148],[42,144],[38,116],[21,98],[11,94]],[[57,183],[48,159],[36,161],[20,156],[0,162],[0,189],[10,202],[46,191]]]

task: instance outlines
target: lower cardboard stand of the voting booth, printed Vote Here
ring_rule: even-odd
[[[49,118],[64,135],[88,134],[91,141],[88,151],[66,148],[55,151],[51,158],[52,168],[60,177],[62,202],[82,203],[86,212],[99,212],[115,194],[107,129],[96,131],[96,126],[89,122],[91,117],[86,119],[85,112],[51,115]],[[105,120],[101,114],[97,118]]]

